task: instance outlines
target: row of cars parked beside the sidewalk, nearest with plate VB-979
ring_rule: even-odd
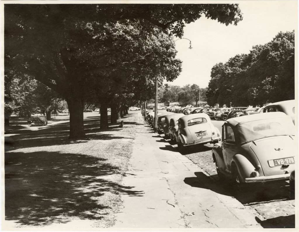
[[[178,149],[213,144],[211,155],[221,180],[233,180],[237,185],[290,180],[294,199],[298,150],[290,114],[295,114],[295,101],[269,104],[263,112],[227,119],[221,133],[207,113],[158,113],[157,119],[152,111],[146,114],[149,124],[153,126],[157,120],[158,133],[176,142]]]

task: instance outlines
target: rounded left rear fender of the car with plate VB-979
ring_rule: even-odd
[[[241,154],[234,155],[231,161],[231,167],[233,166],[233,163],[237,167],[242,182],[245,182],[245,178],[253,177],[251,174],[255,168],[245,156]]]

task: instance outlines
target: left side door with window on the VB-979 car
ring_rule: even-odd
[[[234,155],[238,153],[238,149],[235,142],[234,131],[229,125],[224,125],[224,139],[223,142],[223,155],[226,158],[226,172],[231,171],[231,160],[233,159]]]

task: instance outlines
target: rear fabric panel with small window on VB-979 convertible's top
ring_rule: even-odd
[[[285,117],[245,122],[237,126],[236,129],[240,135],[240,143],[270,136],[295,135],[295,126],[292,120],[286,120]]]

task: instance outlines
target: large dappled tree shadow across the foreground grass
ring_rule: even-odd
[[[105,159],[59,152],[5,154],[5,219],[22,225],[66,223],[70,217],[100,219],[103,191],[139,195],[105,176],[118,168]],[[102,201],[103,202],[103,201]]]

